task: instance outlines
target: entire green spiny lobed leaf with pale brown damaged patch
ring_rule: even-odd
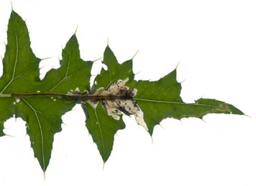
[[[75,104],[82,104],[86,127],[104,162],[111,155],[114,135],[125,127],[123,114],[133,114],[151,135],[155,125],[168,117],[243,114],[231,104],[215,99],[183,102],[176,69],[155,82],[135,81],[132,59],[119,64],[109,46],[103,60],[108,69],[101,69],[92,89],[89,79],[93,62],[81,59],[76,34],[63,49],[60,68],[51,69],[41,82],[40,59],[30,48],[25,22],[14,11],[9,19],[7,41],[4,74],[0,79],[0,137],[4,135],[6,119],[21,117],[27,122],[31,146],[44,172],[50,162],[54,134],[61,131],[61,117]]]

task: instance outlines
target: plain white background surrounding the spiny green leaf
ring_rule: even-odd
[[[119,62],[140,49],[134,58],[136,79],[159,79],[180,62],[185,102],[219,99],[250,117],[165,119],[164,129],[155,127],[153,143],[134,118],[124,117],[127,127],[117,132],[103,170],[86,117],[76,106],[55,135],[45,181],[25,123],[12,118],[5,132],[14,137],[0,139],[0,185],[256,185],[255,1],[13,0],[13,5],[27,19],[37,57],[52,57],[42,61],[41,77],[59,67],[62,46],[79,25],[83,59],[102,57],[109,37]],[[6,42],[10,13],[10,1],[1,0],[0,41]],[[96,62],[93,75],[100,68]]]

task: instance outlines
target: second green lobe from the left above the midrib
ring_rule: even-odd
[[[40,92],[68,93],[79,88],[82,92],[90,89],[91,67],[93,62],[84,62],[80,58],[76,34],[71,36],[63,49],[63,60],[59,69],[51,69],[40,84]]]

